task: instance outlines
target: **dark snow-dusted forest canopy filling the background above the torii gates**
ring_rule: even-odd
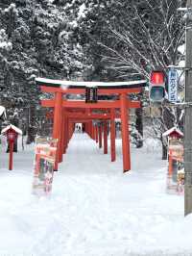
[[[5,88],[1,104],[22,108],[19,118],[30,112],[37,115],[41,94],[36,76],[129,80],[148,78],[153,68],[178,64],[184,21],[177,8],[185,2],[1,0],[0,87]],[[38,118],[24,119],[35,133]]]

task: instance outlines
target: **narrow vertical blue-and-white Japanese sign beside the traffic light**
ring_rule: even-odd
[[[176,69],[169,70],[168,96],[170,102],[178,101],[178,72]]]

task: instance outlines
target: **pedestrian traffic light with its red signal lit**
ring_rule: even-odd
[[[150,100],[162,102],[165,97],[166,74],[161,70],[154,70],[150,76]]]

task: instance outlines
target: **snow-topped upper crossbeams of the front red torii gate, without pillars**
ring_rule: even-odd
[[[76,82],[62,81],[46,78],[36,78],[36,84],[40,86],[43,92],[61,92],[63,94],[84,94],[86,88],[97,88],[97,93],[100,95],[110,94],[130,94],[139,93],[141,89],[146,87],[146,80],[128,81],[128,82]],[[138,101],[129,100],[130,108],[139,108]],[[127,104],[127,107],[128,107]],[[43,107],[54,107],[54,100],[41,100]],[[85,103],[84,100],[65,100],[62,102],[62,107],[65,108],[90,108],[90,109],[111,109],[120,108],[120,100],[98,100],[97,103]]]

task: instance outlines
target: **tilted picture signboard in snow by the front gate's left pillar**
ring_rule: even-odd
[[[37,195],[43,195],[51,192],[56,152],[56,139],[42,137],[36,138],[33,192]]]

